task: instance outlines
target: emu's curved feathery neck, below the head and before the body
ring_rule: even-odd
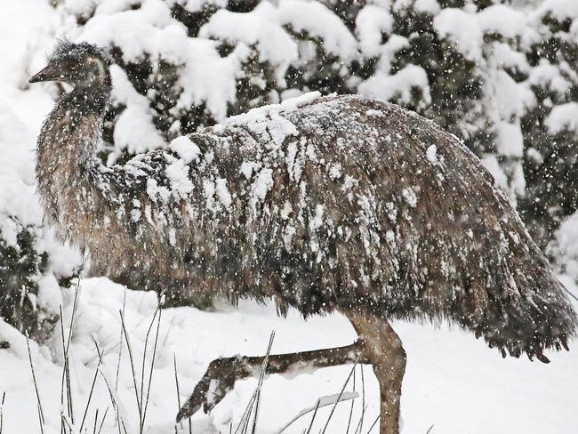
[[[44,121],[38,138],[36,178],[44,214],[60,236],[83,245],[75,234],[79,219],[89,219],[99,170],[95,153],[108,104],[109,86],[76,87],[62,97]]]

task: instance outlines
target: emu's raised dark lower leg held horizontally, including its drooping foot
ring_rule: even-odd
[[[217,358],[213,360],[195,386],[192,395],[177,414],[177,422],[186,419],[203,406],[205,413],[211,410],[230,390],[235,382],[251,376],[259,376],[264,357]],[[349,363],[370,363],[365,358],[364,342],[357,340],[346,347],[326,350],[302,351],[269,356],[266,374],[282,374],[312,367],[340,366]]]

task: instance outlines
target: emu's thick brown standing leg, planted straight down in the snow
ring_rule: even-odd
[[[365,357],[373,365],[380,383],[380,434],[399,432],[399,401],[405,374],[405,350],[386,319],[363,314],[346,314],[365,342]]]

